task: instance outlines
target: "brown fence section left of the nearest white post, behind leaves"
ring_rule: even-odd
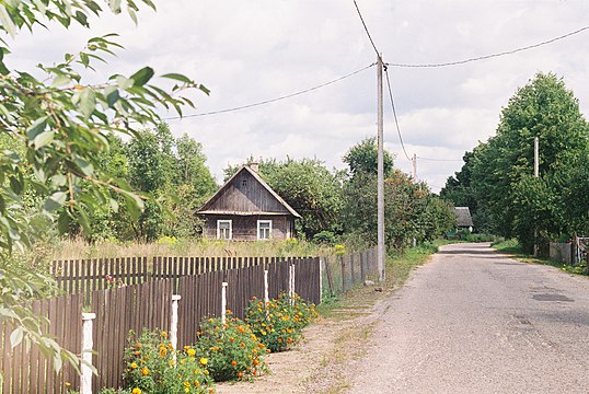
[[[35,315],[43,320],[45,333],[53,336],[65,349],[76,355],[81,352],[82,296],[33,301],[30,306]],[[10,325],[0,325],[2,393],[62,393],[69,386],[78,386],[80,378],[71,366],[65,364],[56,374],[53,360],[44,357],[35,346],[27,349],[23,341],[12,348],[11,333]]]

